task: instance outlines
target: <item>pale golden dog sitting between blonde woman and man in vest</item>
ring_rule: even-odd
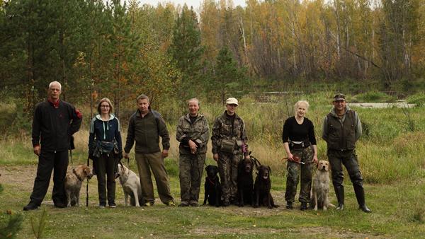
[[[312,187],[312,202],[310,205],[314,205],[314,211],[318,208],[322,208],[324,211],[329,206],[335,207],[329,202],[329,162],[319,161],[317,163],[316,174],[313,178]]]

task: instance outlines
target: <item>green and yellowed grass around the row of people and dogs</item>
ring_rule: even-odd
[[[17,238],[34,238],[30,220],[38,221],[45,209],[43,238],[425,238],[425,108],[356,108],[364,129],[356,151],[365,179],[366,202],[373,214],[357,209],[347,175],[344,180],[346,210],[300,211],[296,204],[296,208],[289,211],[284,209],[285,161],[281,158],[285,154],[280,134],[283,120],[292,115],[292,105],[300,98],[310,101],[307,117],[315,126],[319,158],[326,159],[326,144],[320,134],[323,117],[330,109],[331,93],[271,98],[266,102],[243,98],[238,108],[246,122],[251,151],[261,163],[271,165],[272,194],[281,205],[278,209],[170,208],[158,199],[155,206],[135,209],[123,206],[123,192],[118,181],[118,207],[98,209],[94,177],[89,183],[89,207],[55,209],[50,200],[50,185],[41,209],[23,213],[22,207],[28,203],[33,187],[37,158],[32,153],[28,134],[19,134],[0,139],[1,226],[10,218],[7,210],[23,214],[22,230]],[[222,110],[220,105],[203,104],[201,108],[210,124]],[[165,109],[162,112],[165,112],[171,132],[171,155],[166,158],[166,168],[172,194],[179,203],[178,143],[174,139],[175,122],[172,120],[178,116],[167,115]],[[73,165],[86,163],[88,120],[76,134]],[[124,124],[125,120],[122,119]],[[130,168],[137,172],[134,156],[132,153],[130,156],[133,158]],[[209,151],[207,164],[213,163],[211,158]],[[82,191],[81,201],[85,202],[85,187]],[[333,189],[330,198],[336,204]],[[203,200],[203,189],[200,200]]]

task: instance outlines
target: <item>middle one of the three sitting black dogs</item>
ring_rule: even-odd
[[[244,206],[245,204],[252,205],[253,200],[253,187],[254,179],[252,178],[252,170],[254,169],[254,161],[249,159],[244,159],[239,162],[238,173],[237,173],[237,195],[239,200],[239,206]]]

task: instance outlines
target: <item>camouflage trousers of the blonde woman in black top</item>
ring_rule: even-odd
[[[291,153],[294,156],[301,158],[301,162],[305,164],[295,163],[293,161],[288,161],[286,169],[288,173],[286,175],[286,192],[285,192],[285,201],[286,202],[295,202],[295,194],[297,194],[297,185],[299,179],[301,179],[300,185],[300,196],[298,201],[300,202],[310,202],[310,190],[312,188],[312,173],[314,164],[313,160],[313,150],[312,147],[301,148],[301,149],[292,149]]]

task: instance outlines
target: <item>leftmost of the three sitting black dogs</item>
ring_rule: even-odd
[[[205,168],[205,172],[207,173],[207,177],[205,177],[205,197],[203,205],[205,205],[208,200],[208,204],[211,206],[220,206],[222,205],[222,187],[217,175],[218,167],[215,165],[208,165]]]

